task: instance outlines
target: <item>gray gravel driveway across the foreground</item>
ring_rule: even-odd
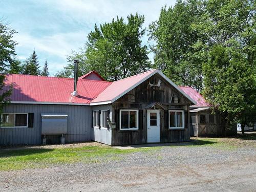
[[[255,163],[253,146],[161,147],[101,164],[0,172],[0,191],[256,191]]]

